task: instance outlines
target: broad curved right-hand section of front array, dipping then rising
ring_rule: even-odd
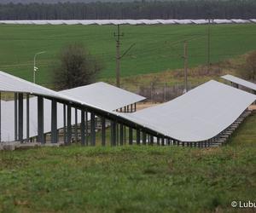
[[[255,100],[256,95],[212,80],[173,101],[120,116],[178,141],[207,141]]]

